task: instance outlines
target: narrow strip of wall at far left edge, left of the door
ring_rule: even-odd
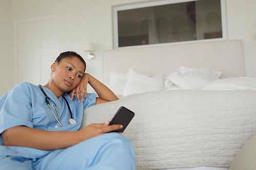
[[[0,0],[0,98],[13,88],[12,2]]]

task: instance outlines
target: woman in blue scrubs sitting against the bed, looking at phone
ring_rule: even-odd
[[[84,108],[117,100],[85,70],[80,55],[61,53],[45,86],[20,83],[0,99],[0,169],[135,169],[131,142],[107,133],[121,125],[78,130]],[[98,98],[86,93],[88,83]]]

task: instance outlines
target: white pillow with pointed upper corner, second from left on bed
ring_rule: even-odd
[[[163,90],[162,74],[149,77],[147,75],[141,74],[133,68],[130,68],[127,75],[128,80],[124,87],[124,96],[135,93]]]

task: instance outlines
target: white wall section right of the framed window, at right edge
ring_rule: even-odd
[[[243,40],[247,77],[256,77],[255,7],[255,0],[226,0],[228,39]]]

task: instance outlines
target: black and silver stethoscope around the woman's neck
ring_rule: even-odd
[[[51,99],[47,96],[47,94],[45,93],[44,89],[42,89],[42,87],[41,87],[40,84],[38,84],[38,87],[39,87],[39,88],[42,90],[42,92],[45,94],[47,105],[48,105],[49,108],[51,109],[52,114],[53,114],[54,117],[56,118],[56,120],[57,120],[57,122],[59,123],[59,125],[62,127],[62,124],[61,124],[61,121],[60,121],[60,118],[59,118],[59,113],[58,113],[56,104],[53,102],[53,100],[51,100]],[[69,119],[69,125],[77,124],[76,120],[73,119],[72,112],[71,112],[71,109],[70,109],[70,107],[69,107],[69,103],[68,103],[67,99],[65,98],[64,95],[62,95],[62,98],[66,101],[66,103],[67,103],[67,105],[68,105],[68,108],[69,108],[69,112],[70,112],[70,116],[71,116],[71,118]],[[53,110],[52,110],[50,104],[55,108],[59,119],[58,119],[57,116],[54,114],[54,112],[53,112]]]

